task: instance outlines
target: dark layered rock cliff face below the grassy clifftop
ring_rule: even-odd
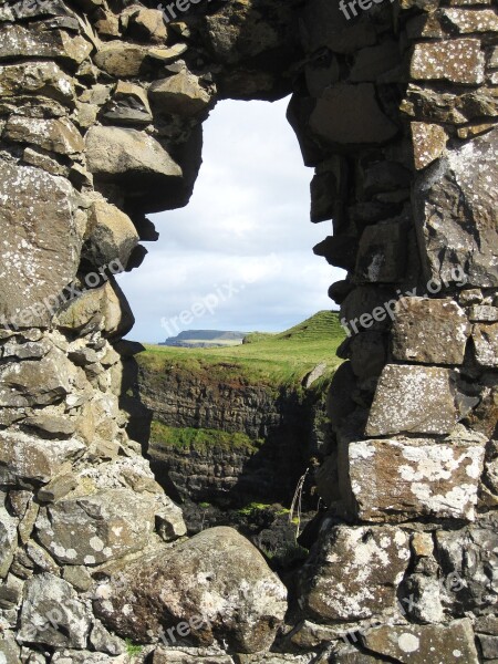
[[[156,478],[183,499],[289,502],[311,457],[325,452],[325,390],[141,366],[138,394],[152,412],[148,455]],[[165,427],[210,430],[181,444]]]

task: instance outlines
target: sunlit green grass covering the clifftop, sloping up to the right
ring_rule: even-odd
[[[209,381],[272,386],[297,384],[317,364],[325,363],[324,380],[341,363],[335,356],[345,334],[339,315],[320,311],[279,334],[255,333],[250,343],[221,349],[146,345],[137,355],[145,370],[205,375]]]

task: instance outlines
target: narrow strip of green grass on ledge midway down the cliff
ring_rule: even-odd
[[[176,449],[206,453],[208,449],[243,449],[257,452],[262,440],[252,440],[246,434],[228,433],[219,429],[173,427],[157,419],[151,425],[151,443],[157,447],[174,447]]]

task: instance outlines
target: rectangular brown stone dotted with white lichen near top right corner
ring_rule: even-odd
[[[415,80],[477,85],[484,81],[485,58],[477,39],[415,44],[411,75]]]

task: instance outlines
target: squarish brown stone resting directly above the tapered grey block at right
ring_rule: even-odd
[[[392,329],[393,356],[401,362],[463,364],[470,325],[449,298],[401,298]]]

